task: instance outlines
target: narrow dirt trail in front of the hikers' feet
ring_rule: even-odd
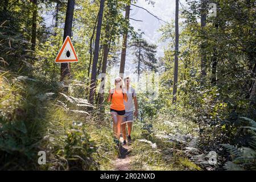
[[[120,138],[121,142],[123,141],[122,138]],[[114,160],[114,170],[115,171],[129,171],[131,170],[130,162],[131,162],[131,155],[130,152],[132,150],[132,147],[130,144],[126,144],[125,146],[120,146],[120,154],[118,156],[118,159]]]

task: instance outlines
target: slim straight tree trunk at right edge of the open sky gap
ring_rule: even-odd
[[[177,97],[177,76],[178,76],[178,56],[179,56],[179,0],[176,0],[175,9],[175,61],[174,61],[174,89],[172,92],[172,104],[176,103]]]

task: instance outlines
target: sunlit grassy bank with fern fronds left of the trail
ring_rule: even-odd
[[[96,147],[82,121],[70,119],[72,114],[82,119],[88,113],[72,105],[69,109],[64,100],[60,101],[64,106],[54,104],[57,85],[8,73],[0,82],[1,169],[98,169],[92,158]],[[89,106],[82,99],[66,97]],[[39,151],[46,151],[46,166],[38,164]]]

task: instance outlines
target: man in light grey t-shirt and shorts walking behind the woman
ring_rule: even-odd
[[[125,104],[125,117],[123,117],[122,122],[122,137],[123,144],[126,144],[126,123],[128,130],[127,142],[131,142],[131,127],[133,126],[133,118],[138,118],[138,102],[137,102],[137,93],[135,89],[130,85],[130,78],[126,77],[124,80],[125,83],[125,91],[127,93],[128,100],[124,102]],[[135,111],[133,107],[133,101],[135,106]]]

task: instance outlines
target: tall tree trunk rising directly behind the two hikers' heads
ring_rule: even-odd
[[[120,69],[119,69],[119,75],[121,77],[123,77],[123,74],[125,73],[125,57],[126,57],[127,34],[128,34],[129,16],[130,16],[130,3],[131,3],[131,1],[125,7],[125,19],[127,22],[127,28],[126,28],[125,32],[123,32],[121,62],[120,62]]]

